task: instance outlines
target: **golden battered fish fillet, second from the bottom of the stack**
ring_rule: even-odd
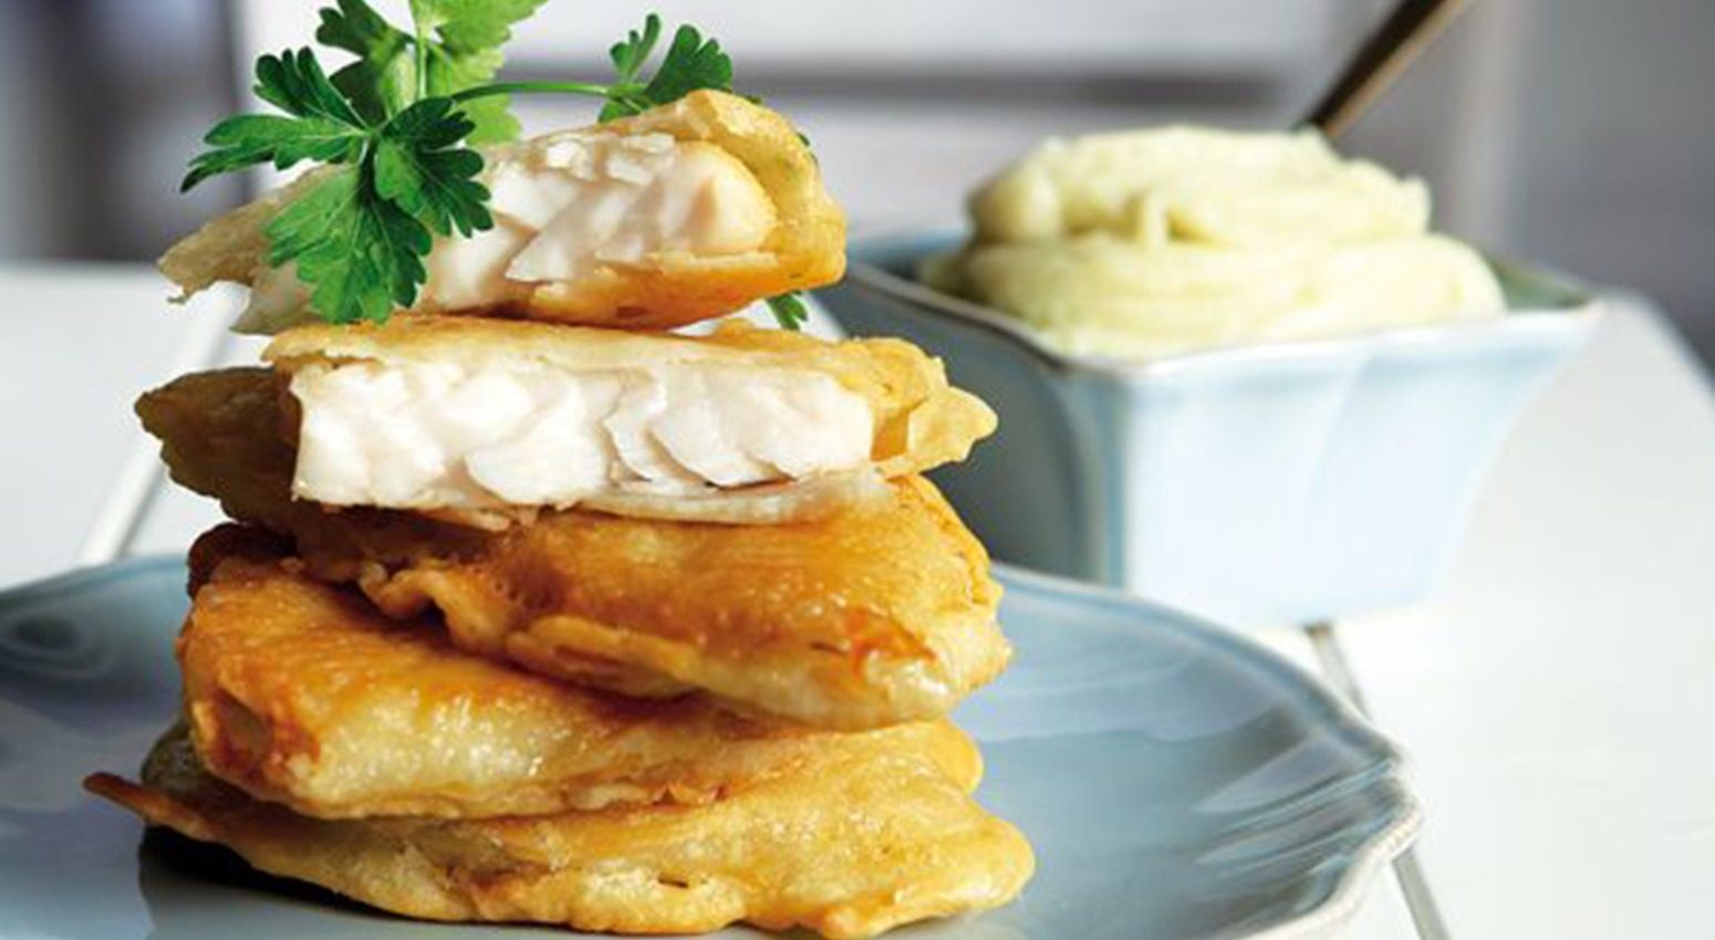
[[[749,720],[703,696],[633,700],[461,654],[295,571],[235,525],[190,551],[202,581],[178,638],[185,719],[204,765],[321,818],[497,816],[707,803],[845,746],[931,753],[976,784],[955,731],[858,736]]]

